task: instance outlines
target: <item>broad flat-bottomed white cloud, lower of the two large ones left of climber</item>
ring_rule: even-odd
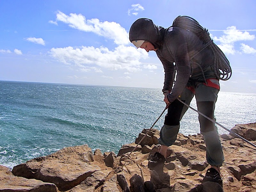
[[[129,72],[140,71],[140,58],[148,58],[148,53],[135,47],[119,45],[115,50],[101,46],[94,47],[64,47],[52,48],[50,54],[65,64],[75,65],[82,71],[90,71],[98,68],[108,68],[110,70],[127,70]],[[94,67],[94,68],[92,68]],[[100,69],[98,69],[100,70]]]

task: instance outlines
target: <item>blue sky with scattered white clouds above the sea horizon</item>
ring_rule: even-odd
[[[255,10],[255,0],[0,0],[0,80],[162,88],[156,53],[136,49],[129,29],[188,15],[230,61],[221,91],[256,93]]]

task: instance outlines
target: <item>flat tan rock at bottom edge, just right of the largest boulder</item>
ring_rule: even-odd
[[[108,170],[96,171],[69,192],[94,192],[95,189],[104,183],[110,172]]]

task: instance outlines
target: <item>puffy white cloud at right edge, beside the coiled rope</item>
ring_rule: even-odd
[[[241,30],[238,30],[236,29],[236,26],[228,27],[227,30],[224,30],[224,35],[222,35],[221,37],[212,37],[214,41],[220,42],[220,45],[218,46],[226,54],[235,54],[236,52],[238,52],[235,49],[235,43],[237,41],[252,41],[254,40],[254,38],[254,35],[250,35],[247,31],[243,32]],[[251,48],[245,44],[241,44],[241,49],[244,53],[248,54],[254,53],[255,50],[254,48]]]

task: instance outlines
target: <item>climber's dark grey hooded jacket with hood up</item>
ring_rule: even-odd
[[[132,24],[129,35],[131,42],[145,40],[157,48],[156,54],[165,72],[163,92],[171,92],[167,97],[169,102],[177,99],[186,86],[195,88],[196,82],[217,78],[211,68],[214,64],[213,53],[208,47],[192,56],[202,50],[204,43],[188,30],[158,27],[152,20],[141,18]]]

